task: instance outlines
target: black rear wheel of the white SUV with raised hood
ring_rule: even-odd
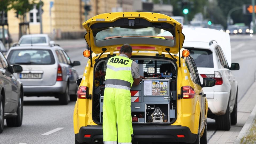
[[[227,110],[224,115],[216,116],[215,125],[218,130],[230,130],[230,101],[227,104]]]

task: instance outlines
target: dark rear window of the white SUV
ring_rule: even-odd
[[[188,49],[197,67],[213,68],[213,53],[204,49]]]

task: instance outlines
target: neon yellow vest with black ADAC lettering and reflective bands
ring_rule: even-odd
[[[133,84],[131,63],[133,60],[115,56],[108,60],[105,87],[130,90]]]

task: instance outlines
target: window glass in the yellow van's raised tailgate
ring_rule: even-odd
[[[166,35],[157,36],[158,34],[163,33],[164,31],[165,30],[163,29],[158,29],[155,27],[147,27],[147,28],[141,28],[141,29],[126,29],[121,27],[111,27],[109,29],[99,31],[96,34],[95,38],[97,40],[104,40],[104,39],[119,38],[119,37],[154,37],[154,38],[164,38],[167,40],[173,40],[172,34],[169,31],[165,33]]]

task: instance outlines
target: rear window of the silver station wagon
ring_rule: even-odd
[[[11,50],[7,61],[11,65],[52,65],[55,63],[51,50],[41,49]]]

